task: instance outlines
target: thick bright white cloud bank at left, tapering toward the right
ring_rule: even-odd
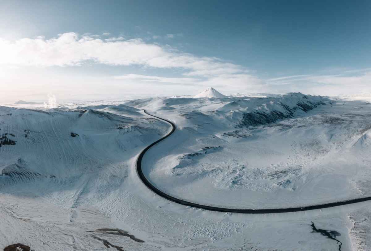
[[[0,64],[26,66],[70,66],[93,61],[108,65],[139,65],[154,68],[182,68],[185,75],[215,75],[247,72],[240,65],[219,58],[197,57],[171,46],[147,44],[142,39],[95,38],[70,32],[57,38],[0,38]]]

